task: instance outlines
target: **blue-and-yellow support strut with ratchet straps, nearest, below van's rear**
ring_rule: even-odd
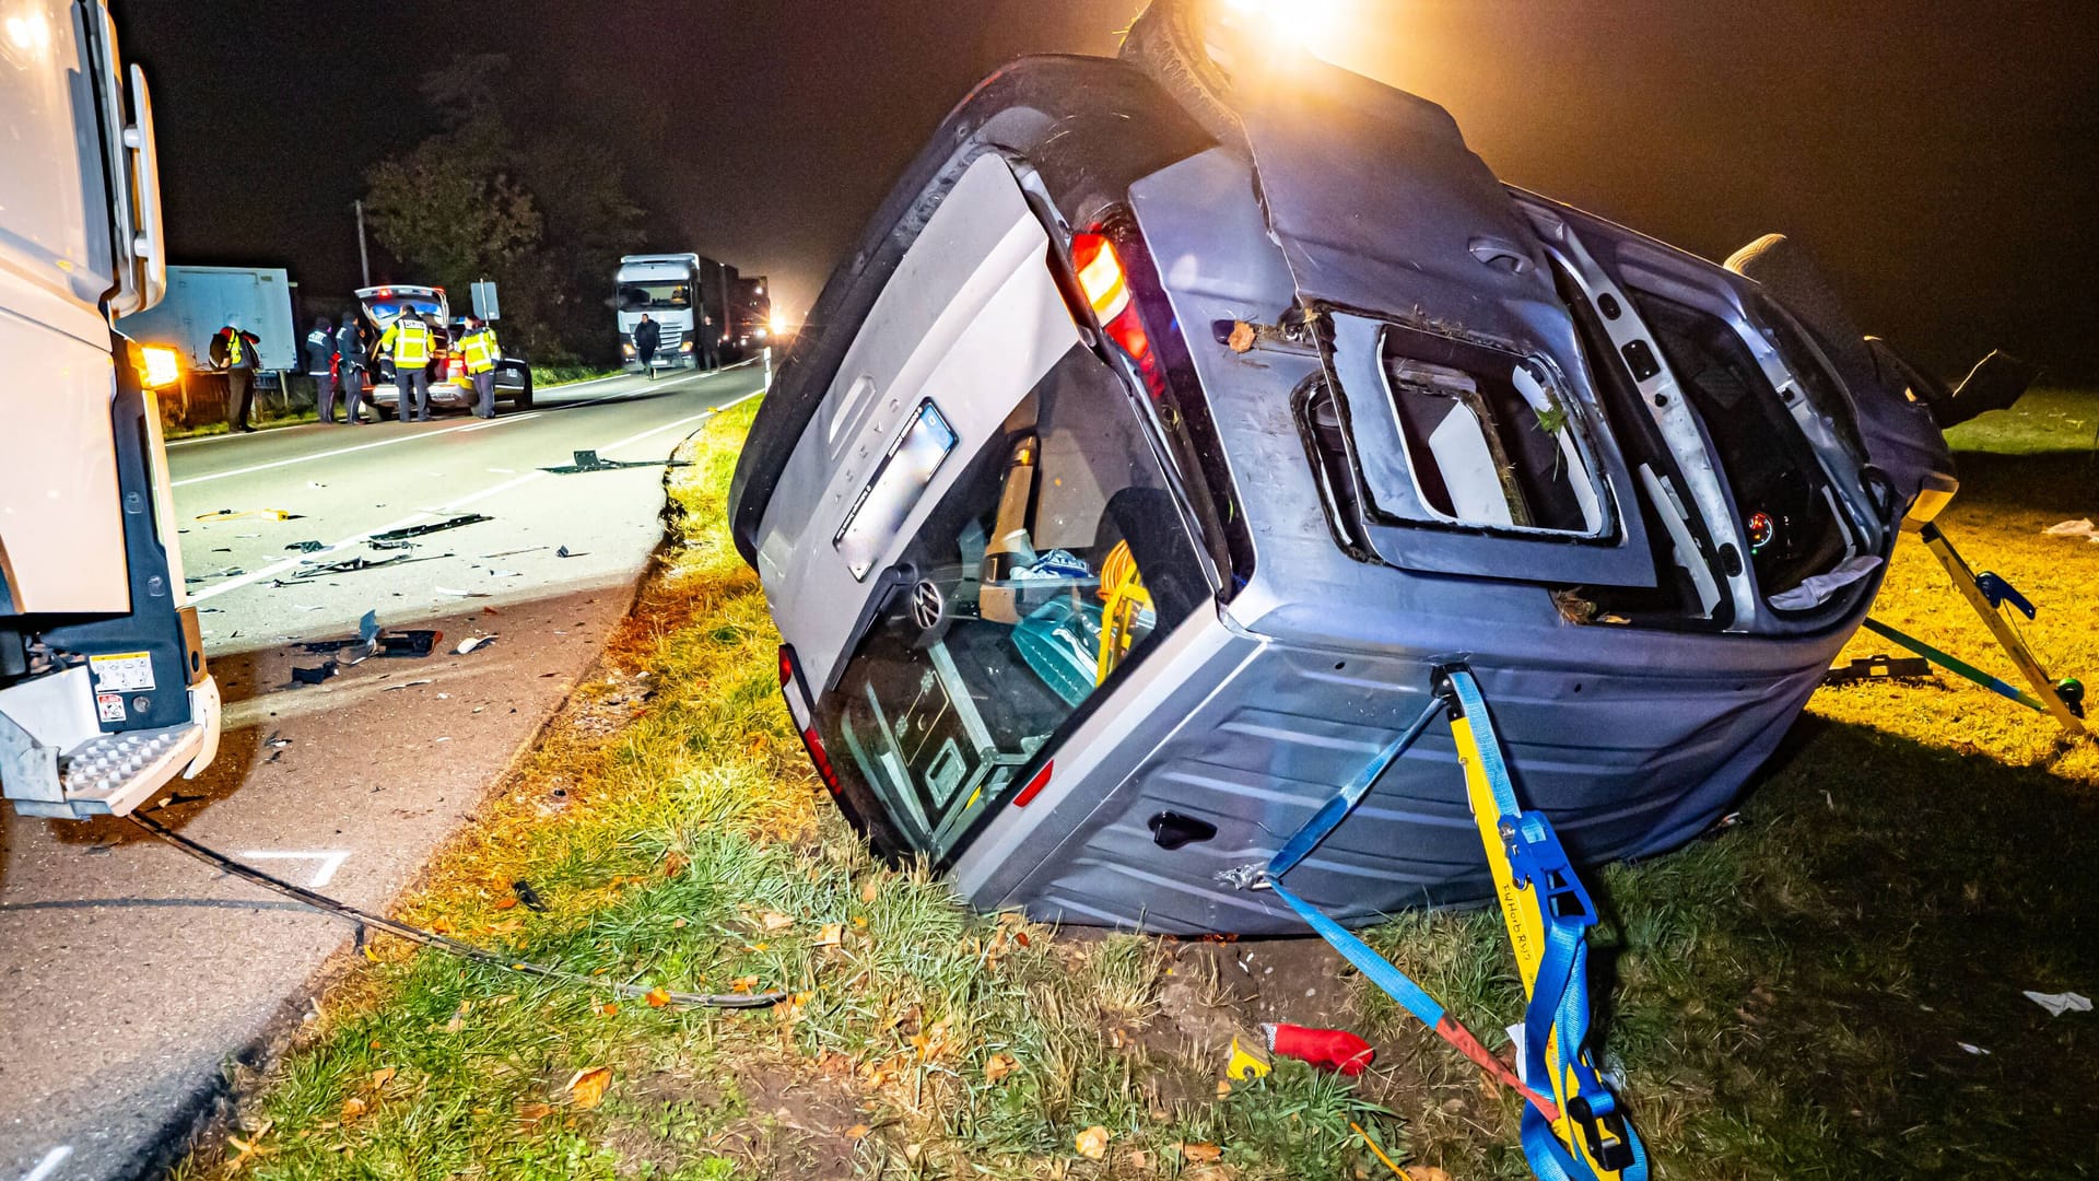
[[[1480,769],[1492,788],[1494,828],[1503,836],[1501,849],[1488,849],[1490,862],[1505,857],[1513,883],[1530,889],[1543,925],[1543,954],[1536,977],[1530,983],[1530,1004],[1524,1011],[1524,1074],[1518,1078],[1501,1059],[1490,1055],[1469,1030],[1465,1030],[1425,988],[1402,973],[1369,944],[1352,935],[1345,927],[1329,918],[1310,902],[1282,887],[1282,874],[1297,868],[1320,841],[1324,841],[1362,803],[1377,780],[1421,738],[1436,721],[1438,712],[1457,708],[1457,714],[1471,725]],[[1453,721],[1453,731],[1457,729]],[[1463,746],[1463,744],[1461,744]],[[1469,799],[1469,796],[1467,796]],[[1387,744],[1377,757],[1333,799],[1282,843],[1282,849],[1268,862],[1264,872],[1241,876],[1241,885],[1266,885],[1299,918],[1306,920],[1335,952],[1356,967],[1381,992],[1392,996],[1402,1009],[1429,1025],[1438,1036],[1459,1049],[1503,1084],[1515,1089],[1526,1099],[1522,1141],[1530,1170],[1541,1181],[1646,1181],[1648,1156],[1631,1124],[1618,1112],[1616,1095],[1604,1086],[1595,1070],[1583,1057],[1589,1038],[1589,944],[1587,931],[1595,925],[1595,906],[1574,874],[1560,838],[1553,834],[1545,813],[1522,811],[1515,803],[1515,788],[1509,782],[1507,763],[1501,757],[1501,742],[1486,714],[1486,700],[1480,696],[1471,672],[1463,668],[1446,670],[1444,685],[1429,700],[1429,706],[1406,727],[1400,738]],[[1507,916],[1511,933],[1515,916]],[[1551,1053],[1547,1053],[1551,1051]],[[1555,1080],[1560,1080],[1555,1084]],[[1566,1105],[1553,1099],[1553,1091],[1566,1086]],[[1564,1120],[1568,1135],[1583,1135],[1583,1152],[1560,1139],[1555,1124]],[[1591,1160],[1602,1166],[1591,1166]]]

